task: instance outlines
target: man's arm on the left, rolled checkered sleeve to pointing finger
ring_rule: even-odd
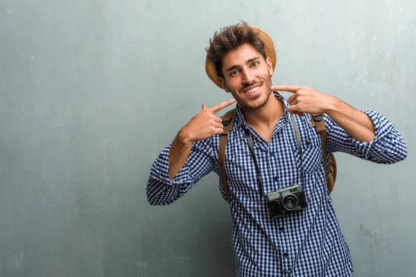
[[[235,100],[221,102],[193,116],[168,145],[150,170],[147,197],[153,205],[167,205],[187,193],[196,182],[212,170],[211,136],[223,133],[221,118],[215,116]]]

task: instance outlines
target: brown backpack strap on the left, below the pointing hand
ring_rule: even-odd
[[[225,147],[228,141],[228,132],[232,130],[234,125],[235,112],[230,109],[223,116],[223,134],[220,134],[220,143],[218,145],[218,167],[220,169],[221,183],[223,184],[225,195],[229,199],[227,176],[225,175]]]

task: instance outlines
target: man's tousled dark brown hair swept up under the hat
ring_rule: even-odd
[[[250,28],[244,21],[241,23],[226,26],[214,33],[214,36],[209,39],[209,48],[207,48],[207,58],[215,64],[218,76],[223,77],[223,57],[224,55],[243,44],[250,44],[254,47],[266,60],[266,53],[264,52],[264,44],[257,38],[258,31]]]

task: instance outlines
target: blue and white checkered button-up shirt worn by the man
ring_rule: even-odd
[[[326,186],[320,136],[309,115],[295,116],[302,143],[302,182],[300,152],[287,112],[288,102],[280,93],[275,92],[275,97],[284,102],[285,112],[273,129],[270,143],[245,123],[238,105],[227,141],[225,172],[236,276],[351,276],[349,248]],[[375,138],[369,143],[356,141],[324,115],[328,152],[342,151],[385,164],[405,159],[406,145],[392,123],[376,111],[364,112],[375,127]],[[264,193],[301,184],[308,208],[278,218],[270,216],[265,197],[259,197],[256,170],[243,128],[250,131]],[[164,148],[150,170],[150,204],[171,204],[212,170],[220,176],[218,143],[219,135],[193,143],[187,162],[173,180],[168,177],[171,145]],[[226,199],[220,182],[219,188]]]

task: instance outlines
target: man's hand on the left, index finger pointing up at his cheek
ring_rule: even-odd
[[[223,133],[223,120],[216,116],[216,113],[229,105],[236,102],[235,99],[229,99],[220,102],[214,107],[207,109],[205,104],[202,104],[202,110],[193,116],[193,118],[185,125],[179,132],[179,136],[184,143],[195,143],[208,139],[214,134]]]

